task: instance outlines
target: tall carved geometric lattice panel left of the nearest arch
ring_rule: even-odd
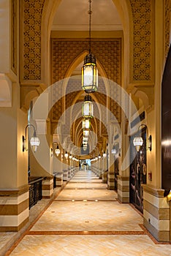
[[[45,0],[23,0],[23,79],[41,80],[41,22]]]

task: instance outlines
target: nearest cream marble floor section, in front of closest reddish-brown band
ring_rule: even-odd
[[[61,256],[170,256],[170,245],[153,244],[147,235],[134,236],[31,236],[27,235],[11,255]]]

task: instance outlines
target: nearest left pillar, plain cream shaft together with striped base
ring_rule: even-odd
[[[0,83],[1,86],[1,83]],[[0,111],[0,231],[18,231],[29,217],[28,153],[23,152],[27,115],[20,110],[20,86],[12,84],[12,107]]]

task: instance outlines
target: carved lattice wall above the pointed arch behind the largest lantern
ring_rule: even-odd
[[[52,83],[64,79],[66,70],[81,53],[88,51],[88,41],[52,39]],[[92,40],[91,51],[103,65],[107,78],[121,84],[121,39]]]

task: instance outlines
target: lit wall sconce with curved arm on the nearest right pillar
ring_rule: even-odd
[[[150,135],[148,137],[148,127],[145,124],[141,124],[140,127],[145,127],[146,131],[147,131],[147,145],[146,145],[146,150],[152,150],[152,136]],[[138,132],[140,132],[140,127],[138,127]],[[133,145],[135,146],[135,148],[137,149],[137,151],[140,151],[140,147],[143,144],[143,140],[142,137],[135,137],[133,140]]]

